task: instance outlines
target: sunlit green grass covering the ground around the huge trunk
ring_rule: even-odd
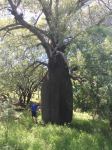
[[[88,117],[87,117],[88,116]],[[1,150],[112,150],[108,121],[92,120],[87,113],[75,113],[67,126],[32,123],[29,112],[19,121],[0,123]]]

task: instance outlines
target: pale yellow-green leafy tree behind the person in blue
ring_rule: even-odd
[[[13,34],[13,32],[12,32]],[[16,93],[22,104],[29,103],[34,91],[40,88],[46,68],[45,62],[39,61],[42,51],[37,49],[35,38],[26,39],[20,30],[16,38],[8,35],[1,45],[1,90],[4,93]],[[20,38],[20,36],[23,36]],[[14,40],[17,40],[15,43]],[[42,56],[41,56],[42,57]],[[43,71],[44,69],[44,71]],[[15,98],[14,98],[15,99]]]

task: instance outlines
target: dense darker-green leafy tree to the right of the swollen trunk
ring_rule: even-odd
[[[84,80],[75,81],[73,86],[75,109],[90,111],[99,118],[110,118],[111,114],[111,34],[111,27],[95,26],[71,46],[70,62],[79,66],[75,74]]]

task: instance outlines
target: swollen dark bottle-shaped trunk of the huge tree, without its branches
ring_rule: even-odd
[[[42,118],[45,123],[72,121],[73,94],[68,66],[60,53],[49,60],[48,75],[41,91]]]

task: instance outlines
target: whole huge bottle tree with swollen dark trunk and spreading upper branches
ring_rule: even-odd
[[[42,118],[45,123],[64,124],[72,121],[72,84],[64,53],[67,45],[72,40],[71,35],[73,33],[69,34],[70,28],[75,25],[77,27],[78,12],[79,10],[82,12],[81,8],[88,1],[33,0],[31,3],[28,0],[6,1],[9,12],[14,16],[15,23],[12,22],[12,24],[3,27],[1,30],[6,30],[8,33],[14,29],[28,29],[37,37],[37,40],[40,41],[38,46],[41,45],[47,54],[48,73],[43,80],[41,90]],[[21,11],[22,6],[25,9],[24,11]],[[37,15],[32,18],[32,22],[26,19],[29,10],[33,12],[32,14],[36,13]],[[26,18],[24,12],[27,14]],[[74,14],[76,15],[73,18]],[[39,20],[42,17],[44,17],[46,25],[39,26]]]

